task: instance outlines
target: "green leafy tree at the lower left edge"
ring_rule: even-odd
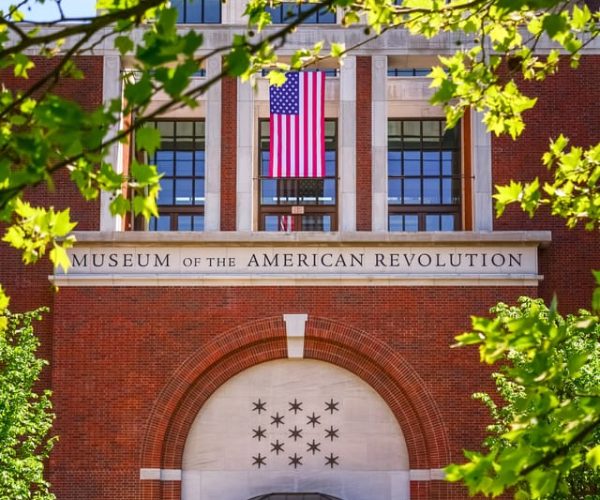
[[[54,414],[50,392],[34,390],[46,361],[36,357],[33,321],[45,309],[11,314],[0,288],[0,496],[54,498],[44,461],[56,441],[48,437]]]

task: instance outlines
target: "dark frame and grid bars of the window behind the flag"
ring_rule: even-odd
[[[333,136],[326,136],[325,139],[325,152],[327,151],[335,152],[334,159],[334,172],[333,175],[325,175],[325,177],[315,179],[311,177],[286,177],[286,178],[273,178],[268,175],[268,161],[264,158],[264,153],[269,153],[269,144],[270,144],[270,133],[269,135],[264,135],[263,130],[269,130],[269,119],[261,118],[258,124],[258,230],[266,231],[266,217],[268,216],[277,216],[281,217],[291,217],[293,224],[293,232],[303,231],[302,229],[302,218],[304,216],[310,217],[311,215],[316,216],[326,216],[330,217],[330,228],[328,231],[337,231],[338,229],[338,218],[339,218],[339,152],[338,152],[338,134],[339,134],[339,126],[337,118],[325,118],[325,130],[327,130],[327,123],[334,124],[334,134]],[[328,140],[330,137],[330,140]],[[285,193],[295,194],[296,200],[299,198],[298,193],[300,192],[300,184],[302,182],[311,182],[311,181],[333,181],[334,183],[334,202],[333,203],[319,203],[318,199],[316,203],[302,203],[302,202],[286,202],[282,201],[282,198],[285,198]],[[262,202],[263,200],[263,182],[264,181],[276,181],[276,199],[277,203],[273,204],[265,204]],[[304,212],[302,214],[294,214],[294,207],[303,207]],[[280,222],[281,223],[281,220]],[[323,230],[325,231],[325,230]],[[277,232],[285,232],[281,227],[278,228]]]

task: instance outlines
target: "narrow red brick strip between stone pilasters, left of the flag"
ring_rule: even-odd
[[[237,80],[221,81],[221,231],[235,231],[237,182]]]

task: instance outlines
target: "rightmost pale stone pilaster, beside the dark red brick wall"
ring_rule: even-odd
[[[492,231],[492,137],[483,123],[483,115],[471,112],[471,170],[473,172],[473,230]]]

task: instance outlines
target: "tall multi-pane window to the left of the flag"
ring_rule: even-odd
[[[159,217],[151,231],[204,230],[204,121],[157,121],[160,148],[150,158],[162,174]]]

